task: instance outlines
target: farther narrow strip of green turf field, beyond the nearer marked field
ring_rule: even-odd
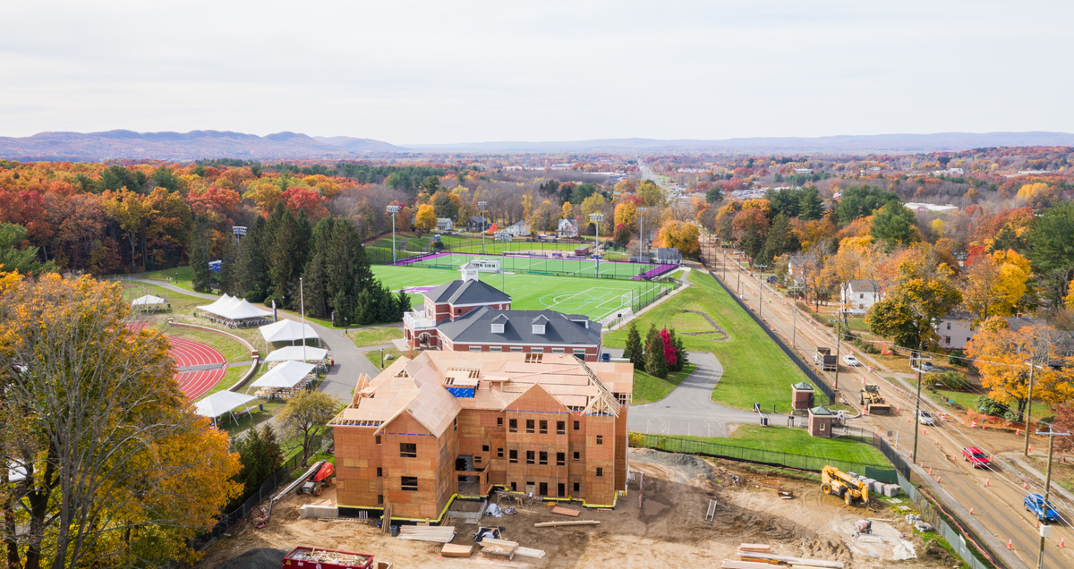
[[[431,257],[412,263],[413,266],[430,268],[458,268],[470,260],[493,259],[499,261],[504,271],[521,272],[529,274],[547,274],[570,277],[595,277],[597,275],[597,262],[590,259],[562,259],[548,257],[500,257],[495,254],[459,253],[450,251],[451,254]],[[657,265],[649,263],[621,263],[600,262],[601,275],[618,275],[620,277],[634,277],[649,269],[656,268]]]

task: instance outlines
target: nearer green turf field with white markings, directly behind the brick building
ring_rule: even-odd
[[[434,287],[460,278],[458,271],[418,266],[373,265],[373,273],[393,291],[411,287]],[[659,287],[668,286],[643,280],[513,275],[510,272],[503,277],[484,273],[481,274],[481,281],[497,289],[503,282],[507,294],[511,296],[511,308],[517,310],[552,308],[561,312],[585,315],[594,320],[603,320],[622,311],[625,308],[626,293],[630,293],[633,302],[637,302],[638,298],[652,298]],[[410,294],[412,306],[420,306],[423,302],[421,294]]]

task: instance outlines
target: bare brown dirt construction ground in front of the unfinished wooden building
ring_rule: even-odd
[[[639,508],[636,482],[630,484],[629,494],[620,499],[614,510],[570,506],[582,510],[577,520],[597,520],[600,525],[534,527],[537,522],[572,520],[552,514],[541,505],[535,506],[534,512],[523,511],[504,517],[487,515],[481,520],[483,526],[505,527],[503,539],[517,541],[523,548],[545,550],[547,554],[541,559],[483,559],[476,544],[475,554],[468,559],[440,557],[438,544],[384,536],[375,522],[326,523],[299,519],[299,506],[332,499],[334,488],[331,488],[320,498],[288,496],[274,508],[267,527],[256,529],[252,525],[244,525],[231,538],[223,538],[212,546],[198,567],[266,568],[264,557],[260,563],[226,561],[250,550],[290,551],[296,545],[373,554],[377,560],[392,561],[394,568],[462,568],[474,564],[616,569],[720,567],[723,559],[736,558],[735,550],[740,543],[767,543],[780,555],[839,560],[847,569],[895,566],[924,569],[959,565],[935,544],[926,546],[901,521],[874,521],[873,535],[854,538],[853,525],[862,517],[898,520],[901,516],[888,510],[886,505],[880,511],[847,507],[841,499],[822,494],[814,482],[758,476],[734,463],[708,462],[651,450],[632,449],[630,469],[644,473],[644,507]],[[777,486],[794,491],[795,498],[781,499]],[[717,502],[712,523],[703,520],[710,498]],[[476,530],[477,526],[456,524],[452,543],[474,544]],[[900,535],[905,535],[914,544],[918,558],[889,560]]]

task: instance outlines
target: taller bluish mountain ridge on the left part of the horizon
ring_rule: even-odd
[[[400,152],[404,148],[369,138],[314,138],[293,132],[266,136],[242,132],[42,132],[14,138],[0,136],[0,158],[14,160],[72,160],[158,158],[180,162],[202,158],[340,159],[371,152]]]

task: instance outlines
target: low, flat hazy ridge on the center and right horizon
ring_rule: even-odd
[[[1074,146],[1065,132],[940,132],[935,134],[866,134],[838,136],[768,136],[751,138],[657,140],[599,138],[571,142],[487,142],[462,144],[408,144],[425,152],[937,152],[988,146]]]

